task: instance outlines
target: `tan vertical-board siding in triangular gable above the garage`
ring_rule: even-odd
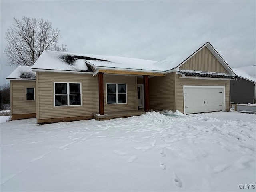
[[[228,73],[207,47],[202,48],[202,50],[180,66],[180,69]]]

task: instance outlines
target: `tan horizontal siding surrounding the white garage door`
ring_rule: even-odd
[[[176,85],[176,109],[184,113],[184,100],[183,100],[183,86],[194,85],[194,86],[225,86],[225,105],[226,110],[230,110],[230,86],[228,80],[206,80],[206,79],[190,79],[190,78],[179,78],[175,74],[175,85]]]

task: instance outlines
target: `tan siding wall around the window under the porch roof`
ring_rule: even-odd
[[[136,76],[104,74],[104,112],[136,110]],[[127,84],[127,104],[106,104],[106,84]]]

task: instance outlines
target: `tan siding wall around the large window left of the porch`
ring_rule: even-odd
[[[92,116],[98,112],[98,77],[92,74],[38,72],[37,119]],[[82,106],[54,106],[54,82],[82,83]]]

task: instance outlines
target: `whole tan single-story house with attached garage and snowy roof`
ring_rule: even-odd
[[[235,75],[210,42],[158,62],[45,50],[21,68],[7,77],[12,119],[36,115],[38,124],[141,109],[229,111]]]

